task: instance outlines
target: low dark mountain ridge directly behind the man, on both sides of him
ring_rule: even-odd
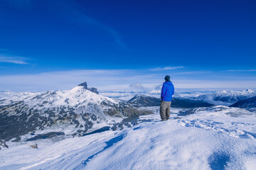
[[[160,106],[161,99],[146,95],[136,95],[130,99],[128,103],[135,106]],[[171,107],[174,108],[197,108],[208,106],[213,105],[203,101],[195,101],[188,98],[173,98],[173,101],[171,102]]]

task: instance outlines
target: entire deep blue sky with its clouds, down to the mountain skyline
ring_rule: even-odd
[[[0,0],[0,90],[68,89],[82,81],[154,89],[166,74],[178,88],[255,89],[255,7]]]

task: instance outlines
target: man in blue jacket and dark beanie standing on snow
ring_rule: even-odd
[[[161,106],[160,116],[161,120],[168,120],[170,118],[171,100],[174,95],[174,84],[170,81],[170,77],[167,75],[164,77],[165,82],[161,89]]]

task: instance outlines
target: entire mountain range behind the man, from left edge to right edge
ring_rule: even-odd
[[[185,109],[181,115],[193,113],[192,108],[218,102],[255,111],[256,96],[250,97],[253,95],[252,90],[219,91],[193,98],[176,94],[171,107]],[[131,127],[126,118],[133,120],[154,113],[155,108],[153,111],[150,107],[159,107],[160,103],[161,98],[146,95],[135,95],[129,101],[108,98],[101,96],[96,88],[88,88],[86,82],[67,91],[0,92],[0,139],[26,141],[54,135],[83,136],[94,130]]]

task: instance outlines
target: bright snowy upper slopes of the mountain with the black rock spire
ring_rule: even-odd
[[[3,100],[3,101],[1,101]],[[112,98],[101,96],[87,89],[83,89],[82,86],[75,86],[71,90],[67,91],[46,91],[46,92],[1,92],[0,105],[7,105],[11,101],[25,101],[30,106],[40,105],[43,102],[47,103],[44,108],[53,106],[75,106],[80,103],[97,103],[102,101],[110,101],[112,103],[118,103]]]

